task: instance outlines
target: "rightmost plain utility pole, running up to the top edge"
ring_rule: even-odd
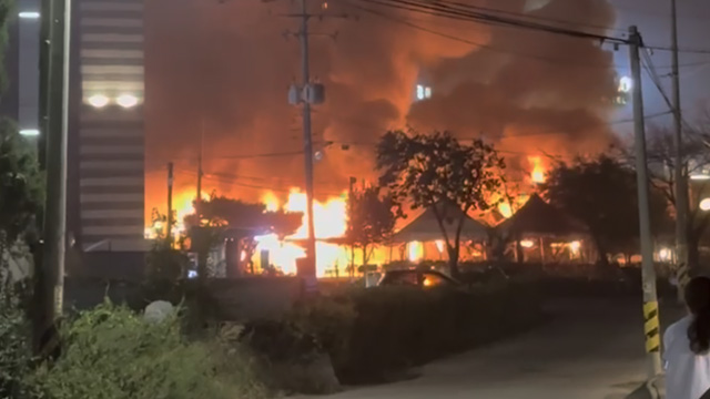
[[[680,110],[680,73],[678,71],[678,17],[676,0],[671,0],[671,47],[672,47],[672,112],[676,143],[676,279],[678,300],[682,303],[683,291],[690,277],[688,275],[688,180],[683,158],[683,124]]]

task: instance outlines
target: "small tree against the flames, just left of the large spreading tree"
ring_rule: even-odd
[[[402,207],[390,195],[381,195],[381,187],[353,192],[347,204],[345,237],[353,248],[363,252],[363,266],[369,260],[368,249],[392,237],[395,223],[402,217]]]

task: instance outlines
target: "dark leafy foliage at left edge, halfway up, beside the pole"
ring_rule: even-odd
[[[10,121],[0,120],[0,229],[14,242],[33,226],[43,203],[43,178],[30,144]]]

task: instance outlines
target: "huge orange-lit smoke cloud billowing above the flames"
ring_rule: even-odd
[[[476,4],[613,24],[607,0]],[[313,11],[318,6],[311,3]],[[301,185],[302,122],[286,98],[300,81],[301,57],[297,40],[284,33],[298,22],[282,17],[296,10],[287,0],[146,2],[149,207],[164,195],[161,171],[169,161],[176,164],[176,190],[194,186],[203,127],[205,191],[257,200],[264,190]],[[332,1],[324,12],[348,18],[311,23],[318,34],[311,41],[312,76],[326,85],[327,96],[313,114],[323,154],[315,172],[321,197],[341,193],[349,176],[374,178],[374,144],[387,129],[406,124],[484,135],[520,160],[542,149],[600,150],[611,140],[605,121],[615,71],[611,53],[598,42],[359,0]],[[433,96],[413,104],[420,80]]]

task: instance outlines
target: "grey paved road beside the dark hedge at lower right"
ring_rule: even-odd
[[[645,379],[642,317],[635,298],[558,299],[545,326],[423,367],[420,377],[355,387],[337,399],[620,399]],[[665,306],[663,324],[680,310]]]

